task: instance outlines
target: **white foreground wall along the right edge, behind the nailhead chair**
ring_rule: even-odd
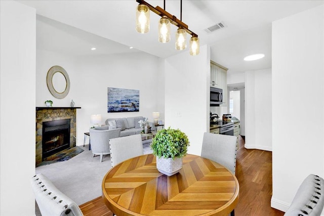
[[[324,177],[323,12],[322,5],[272,24],[271,206],[283,211],[309,174]]]

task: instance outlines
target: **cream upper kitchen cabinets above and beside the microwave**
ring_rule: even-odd
[[[227,106],[227,68],[211,61],[211,87],[223,90],[223,104]]]

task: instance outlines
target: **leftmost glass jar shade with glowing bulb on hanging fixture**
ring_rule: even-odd
[[[150,30],[150,9],[146,5],[138,5],[136,8],[136,31],[147,33]]]

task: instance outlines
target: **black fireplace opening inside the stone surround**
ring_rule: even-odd
[[[47,158],[70,147],[70,119],[43,122],[42,149]]]

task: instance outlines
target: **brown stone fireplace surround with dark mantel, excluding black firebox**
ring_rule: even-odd
[[[81,107],[36,107],[36,165],[43,161],[43,122],[70,119],[70,148],[76,146],[76,109]]]

